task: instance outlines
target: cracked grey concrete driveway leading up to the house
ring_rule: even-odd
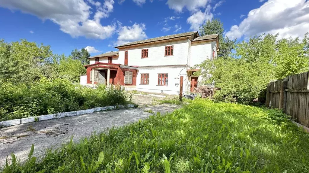
[[[114,111],[96,112],[92,114],[78,115],[61,119],[51,119],[40,122],[26,123],[0,129],[0,165],[3,165],[6,156],[13,152],[18,158],[27,158],[31,145],[34,144],[35,156],[40,156],[44,148],[58,147],[73,136],[74,141],[87,137],[95,130],[104,131],[112,126],[121,126],[127,123],[145,119],[151,113],[172,112],[179,106],[176,105],[154,105],[145,106],[153,97],[140,96],[138,99],[142,108],[121,109]],[[142,101],[144,100],[144,101]]]

